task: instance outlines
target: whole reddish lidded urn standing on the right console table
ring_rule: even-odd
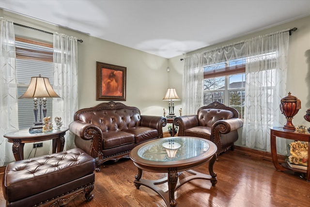
[[[281,99],[280,110],[286,118],[286,124],[283,128],[295,129],[292,119],[299,109],[301,109],[301,101],[297,97],[291,96],[291,92],[289,92],[288,96]]]

